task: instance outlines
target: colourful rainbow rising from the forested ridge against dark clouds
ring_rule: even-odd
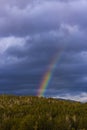
[[[46,71],[45,75],[43,76],[42,82],[40,84],[39,90],[37,92],[37,96],[42,97],[44,96],[44,93],[46,91],[46,88],[48,87],[53,72],[57,66],[57,61],[60,59],[62,52],[57,52],[57,54],[52,58],[52,62],[48,67],[48,70]]]

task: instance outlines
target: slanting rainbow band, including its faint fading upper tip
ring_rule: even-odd
[[[64,51],[68,47],[68,44],[69,43],[63,44],[62,45],[63,47],[60,50],[58,49],[57,53],[52,58],[52,62],[50,63],[50,65],[48,67],[48,70],[44,74],[44,76],[42,78],[42,82],[41,82],[40,87],[38,89],[38,92],[37,92],[38,97],[43,97],[44,96],[45,91],[46,91],[47,87],[49,86],[49,83],[50,83],[50,81],[52,79],[54,70],[55,70],[57,64],[59,63],[61,57],[63,56]]]

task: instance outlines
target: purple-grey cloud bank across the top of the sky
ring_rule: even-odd
[[[62,23],[79,25],[83,28],[87,23],[85,17],[87,11],[86,0],[5,2],[3,6],[1,4],[0,11],[1,36],[23,36],[51,31],[59,28]],[[24,8],[20,6],[24,6]]]

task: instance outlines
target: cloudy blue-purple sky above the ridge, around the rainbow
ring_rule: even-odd
[[[87,0],[0,0],[0,94],[87,101]]]

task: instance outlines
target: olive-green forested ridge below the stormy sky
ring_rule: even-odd
[[[87,103],[1,95],[0,130],[87,130]]]

